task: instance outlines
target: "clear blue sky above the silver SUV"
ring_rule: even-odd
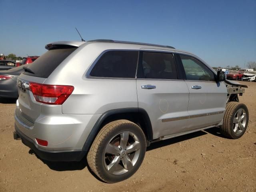
[[[0,0],[0,53],[41,55],[53,41],[174,46],[210,66],[256,61],[256,0]]]

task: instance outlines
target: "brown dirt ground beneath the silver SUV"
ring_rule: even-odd
[[[240,102],[249,125],[238,140],[218,128],[180,136],[148,147],[139,170],[124,182],[106,184],[81,162],[45,162],[14,140],[15,100],[0,100],[0,192],[256,191],[256,83]]]

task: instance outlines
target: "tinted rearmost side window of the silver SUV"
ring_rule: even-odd
[[[95,64],[90,76],[135,78],[138,51],[108,51]]]

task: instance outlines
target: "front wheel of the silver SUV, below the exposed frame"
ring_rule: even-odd
[[[242,137],[246,131],[248,120],[249,112],[245,104],[229,102],[226,106],[226,112],[224,114],[223,124],[220,126],[220,131],[227,138],[238,139]]]

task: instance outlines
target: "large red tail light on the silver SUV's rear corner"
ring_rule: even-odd
[[[61,105],[72,94],[74,87],[69,85],[46,85],[30,82],[30,90],[37,102]]]

